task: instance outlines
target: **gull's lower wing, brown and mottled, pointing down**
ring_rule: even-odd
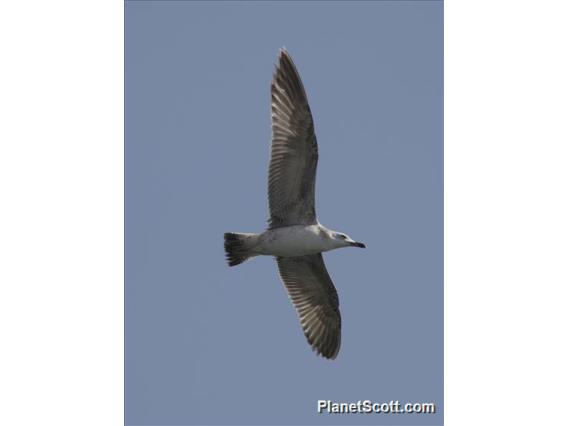
[[[318,354],[335,359],[341,346],[339,298],[321,253],[277,261],[308,342]]]

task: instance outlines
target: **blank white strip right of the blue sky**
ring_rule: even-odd
[[[445,5],[445,419],[568,424],[568,9]]]

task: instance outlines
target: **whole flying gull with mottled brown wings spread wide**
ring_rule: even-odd
[[[312,349],[335,359],[341,346],[337,290],[322,252],[365,248],[316,218],[318,144],[308,98],[286,49],[280,49],[271,84],[272,145],[268,167],[268,229],[261,234],[224,234],[229,266],[254,256],[274,256],[280,278]]]

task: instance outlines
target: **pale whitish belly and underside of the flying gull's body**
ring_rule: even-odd
[[[321,232],[320,225],[295,225],[264,232],[254,251],[260,255],[293,257],[334,248],[336,243]]]

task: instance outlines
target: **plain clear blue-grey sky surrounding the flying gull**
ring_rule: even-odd
[[[126,3],[127,424],[441,424],[443,3]],[[225,263],[266,226],[278,48],[303,79],[342,348],[311,351],[276,264]],[[436,415],[317,414],[319,399]]]

